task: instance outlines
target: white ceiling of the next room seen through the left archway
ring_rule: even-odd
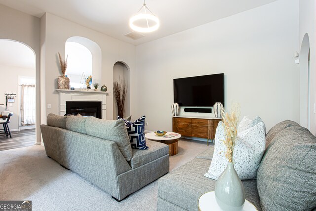
[[[35,70],[35,55],[31,48],[20,42],[0,40],[0,65]]]

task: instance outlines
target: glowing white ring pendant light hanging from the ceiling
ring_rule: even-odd
[[[137,32],[153,32],[153,31],[157,30],[159,28],[159,26],[160,26],[160,21],[159,21],[158,17],[156,17],[148,9],[148,7],[145,4],[145,0],[144,0],[143,6],[138,10],[138,12],[141,11],[143,8],[144,8],[144,13],[138,13],[138,14],[134,15],[133,17],[131,17],[129,19],[129,26],[130,26],[130,28],[132,28],[134,31],[137,31]],[[150,13],[147,13],[146,9]],[[141,26],[135,25],[135,22],[139,21],[139,20],[146,21],[146,27],[141,27]],[[150,26],[148,20],[154,22],[155,25]]]

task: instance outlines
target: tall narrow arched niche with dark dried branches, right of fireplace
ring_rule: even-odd
[[[125,80],[127,84],[127,93],[125,99],[125,113],[124,117],[127,117],[130,114],[130,68],[129,66],[123,62],[118,61],[113,65],[113,81],[115,80]],[[113,94],[113,119],[116,120],[118,116],[118,108],[117,103]]]

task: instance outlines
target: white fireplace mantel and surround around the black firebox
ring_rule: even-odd
[[[56,89],[59,93],[59,115],[66,114],[67,101],[100,101],[102,102],[102,119],[107,119],[107,98],[109,92],[94,90]]]

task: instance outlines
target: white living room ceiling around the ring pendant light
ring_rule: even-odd
[[[129,18],[143,0],[0,0],[0,4],[41,17],[44,12],[134,45],[153,41],[276,0],[146,0],[160,19],[160,28],[139,40],[124,35],[132,30]]]

